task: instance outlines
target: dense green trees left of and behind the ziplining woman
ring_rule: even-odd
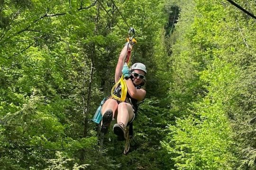
[[[112,148],[106,143],[110,146],[108,152],[99,152],[97,128],[90,122],[103,96],[110,94],[119,51],[127,36],[117,25],[128,29],[110,0],[103,5],[111,17],[94,2],[0,1],[0,164],[3,169],[105,170],[124,167],[121,162],[129,164],[125,157],[117,157],[123,150],[123,144],[117,141],[111,143]],[[148,110],[158,122],[154,130],[148,128],[143,132],[145,127],[140,127],[141,131],[137,132],[140,142],[149,136],[146,145],[138,150],[134,148],[136,154],[131,155],[131,160],[138,159],[133,168],[148,167],[154,160],[151,169],[155,169],[161,165],[160,155],[165,152],[161,151],[159,141],[151,138],[155,133],[159,133],[159,138],[164,137],[161,128],[167,121],[160,116],[161,110],[166,111],[168,107],[165,104],[169,88],[165,62],[168,56],[161,45],[167,17],[164,2],[126,0],[115,4],[137,31],[133,62],[147,65],[148,97],[164,96],[161,102],[155,103],[155,107],[161,105],[156,108],[156,116]],[[162,87],[157,87],[155,82]],[[145,106],[150,108],[150,104]],[[141,117],[139,122],[149,126],[150,119],[144,122]],[[148,159],[142,159],[142,151],[148,152]],[[157,159],[155,152],[159,155]],[[165,165],[168,166],[167,161]]]

